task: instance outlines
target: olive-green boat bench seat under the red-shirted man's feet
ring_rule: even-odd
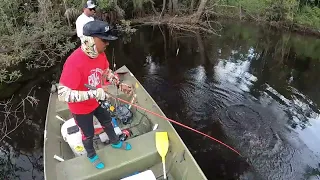
[[[97,151],[105,168],[98,170],[86,156],[76,157],[57,164],[58,180],[113,180],[124,178],[136,171],[144,171],[161,162],[155,144],[155,131],[127,140],[132,145],[129,151],[114,149],[110,145]]]

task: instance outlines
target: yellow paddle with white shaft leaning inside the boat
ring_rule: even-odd
[[[168,132],[156,132],[156,147],[162,158],[163,177],[167,179],[165,160],[169,148]]]

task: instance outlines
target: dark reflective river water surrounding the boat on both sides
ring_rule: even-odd
[[[219,36],[143,27],[107,56],[114,48],[117,67],[126,65],[168,117],[240,151],[175,126],[208,179],[320,179],[320,40],[223,27]],[[1,179],[43,179],[46,106],[61,66],[16,88],[16,98],[40,101],[2,141]]]

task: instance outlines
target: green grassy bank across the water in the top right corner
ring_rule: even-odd
[[[210,12],[319,35],[320,2],[316,0],[221,0]]]

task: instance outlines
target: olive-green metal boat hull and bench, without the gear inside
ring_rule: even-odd
[[[121,67],[117,72],[122,74],[121,79],[124,83],[133,84],[136,87],[135,93],[137,98],[134,102],[135,104],[161,116],[165,116],[156,102],[126,66]],[[116,90],[110,88],[110,92],[115,93]],[[125,97],[124,95],[118,97],[125,100],[130,99],[130,97]],[[163,175],[161,157],[155,145],[155,133],[158,131],[168,132],[169,136],[169,151],[166,155],[168,179],[207,179],[169,121],[135,107],[132,107],[132,112],[134,114],[132,124],[122,127],[131,127],[135,135],[127,140],[132,144],[132,150],[124,151],[113,149],[109,145],[97,145],[97,154],[105,163],[105,168],[98,170],[90,164],[87,157],[75,157],[68,144],[62,138],[60,129],[63,121],[59,120],[56,115],[63,119],[69,119],[71,115],[67,105],[57,100],[57,93],[51,93],[45,125],[45,179],[113,180],[148,169],[152,170],[157,179],[161,179]],[[153,130],[156,124],[157,129]],[[54,159],[55,155],[61,157],[64,161],[60,162]]]

